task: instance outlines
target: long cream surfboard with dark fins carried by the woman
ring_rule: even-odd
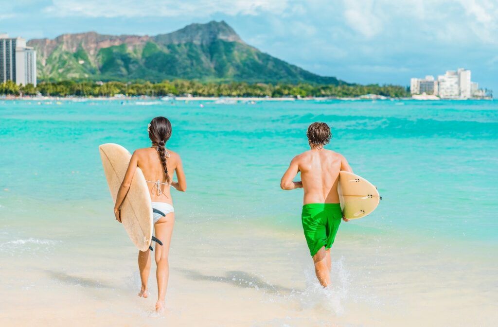
[[[116,203],[116,197],[128,168],[131,154],[124,147],[115,143],[100,145],[99,152],[107,184],[113,201]],[[149,190],[143,173],[138,167],[121,206],[121,221],[135,246],[140,251],[146,251],[152,240],[154,223]]]

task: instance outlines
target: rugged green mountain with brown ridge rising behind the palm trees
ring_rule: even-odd
[[[148,80],[345,84],[263,53],[226,22],[190,24],[156,36],[64,34],[33,39],[39,80]]]

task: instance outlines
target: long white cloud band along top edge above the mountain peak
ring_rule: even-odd
[[[86,17],[205,17],[215,13],[257,15],[281,12],[287,0],[53,0],[44,12],[55,16]]]

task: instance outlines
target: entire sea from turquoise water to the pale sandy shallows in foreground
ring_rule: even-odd
[[[2,326],[495,325],[496,102],[199,105],[0,101]],[[160,316],[153,273],[151,296],[135,295],[136,251],[97,149],[148,146],[155,115],[172,121],[188,181],[173,195]],[[330,294],[300,229],[302,191],[279,189],[316,120],[383,197],[341,225]]]

